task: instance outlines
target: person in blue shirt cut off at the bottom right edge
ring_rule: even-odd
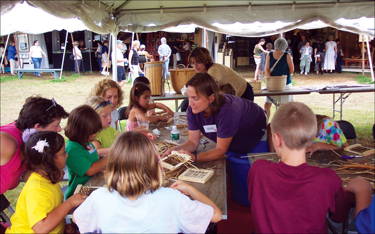
[[[375,198],[371,184],[362,177],[349,181],[346,191],[355,195],[355,226],[358,233],[375,233]]]

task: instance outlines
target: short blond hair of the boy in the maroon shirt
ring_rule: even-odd
[[[277,133],[290,149],[301,149],[312,144],[316,135],[316,117],[301,102],[288,102],[277,109],[272,117],[272,134]]]

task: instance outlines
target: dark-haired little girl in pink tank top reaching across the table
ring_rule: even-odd
[[[137,121],[148,120],[149,123],[155,123],[158,120],[167,120],[173,117],[173,111],[167,106],[155,102],[149,103],[149,98],[151,96],[151,90],[143,83],[134,84],[130,89],[130,100],[129,105],[126,108],[125,116],[126,121],[126,131],[131,131],[138,126]],[[163,109],[168,113],[168,116],[153,115],[147,116],[147,110],[152,109]]]

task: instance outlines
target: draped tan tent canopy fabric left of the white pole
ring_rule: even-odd
[[[1,17],[10,12],[14,6],[23,1],[0,1]],[[118,33],[116,23],[110,19],[107,12],[99,10],[91,5],[82,3],[82,1],[25,1],[52,16],[61,19],[78,18],[88,30],[98,34]],[[22,16],[15,16],[23,19]],[[32,17],[30,18],[32,20]],[[43,27],[43,22],[38,22]],[[18,31],[17,29],[13,29]],[[1,34],[2,35],[2,34]]]

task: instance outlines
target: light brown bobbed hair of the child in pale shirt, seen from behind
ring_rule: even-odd
[[[160,188],[162,167],[156,148],[140,132],[124,132],[112,144],[105,169],[109,191],[116,190],[122,197],[138,197]]]

